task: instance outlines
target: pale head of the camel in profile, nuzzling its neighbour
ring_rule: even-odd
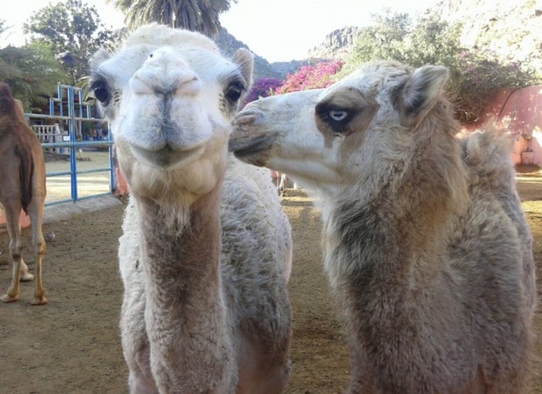
[[[400,170],[447,78],[444,67],[369,63],[327,89],[250,103],[236,116],[229,149],[308,189],[340,195],[344,185]]]

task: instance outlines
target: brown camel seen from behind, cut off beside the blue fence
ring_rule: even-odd
[[[32,245],[36,262],[36,286],[33,305],[47,303],[41,280],[45,255],[43,206],[45,204],[45,160],[38,137],[17,107],[8,84],[0,83],[0,204],[6,215],[13,261],[11,285],[0,300],[9,303],[19,297],[20,280],[33,280],[22,258],[21,210],[30,215]]]

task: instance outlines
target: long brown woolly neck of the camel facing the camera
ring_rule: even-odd
[[[165,386],[195,390],[206,376],[231,377],[231,335],[220,279],[220,188],[190,207],[190,225],[173,231],[167,211],[140,202],[145,321]],[[178,383],[177,383],[178,384]],[[224,383],[227,386],[227,383]]]

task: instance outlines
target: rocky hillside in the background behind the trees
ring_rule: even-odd
[[[488,49],[501,59],[529,63],[542,70],[542,0],[442,0],[435,7],[445,20],[461,22],[465,47]],[[359,27],[346,26],[329,33],[324,42],[308,50],[309,59],[269,63],[255,56],[255,79],[284,79],[303,64],[316,59],[345,59]],[[225,54],[248,46],[226,29],[218,37]]]

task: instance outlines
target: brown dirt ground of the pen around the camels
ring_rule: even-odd
[[[529,170],[520,174],[518,188],[540,268],[542,174]],[[303,192],[287,192],[283,205],[294,237],[289,288],[294,311],[293,370],[287,393],[342,393],[348,381],[347,351],[322,271],[319,217]],[[33,283],[24,283],[20,301],[0,305],[0,394],[127,392],[118,329],[122,289],[116,266],[122,214],[119,205],[45,225],[45,232],[56,233],[44,263],[50,303],[29,305]],[[28,229],[24,234],[28,245]],[[2,232],[2,292],[10,280],[7,247],[8,236]],[[29,252],[27,260],[32,263]],[[541,291],[539,278],[539,299]],[[542,394],[541,312],[535,324],[539,339],[529,394]]]

